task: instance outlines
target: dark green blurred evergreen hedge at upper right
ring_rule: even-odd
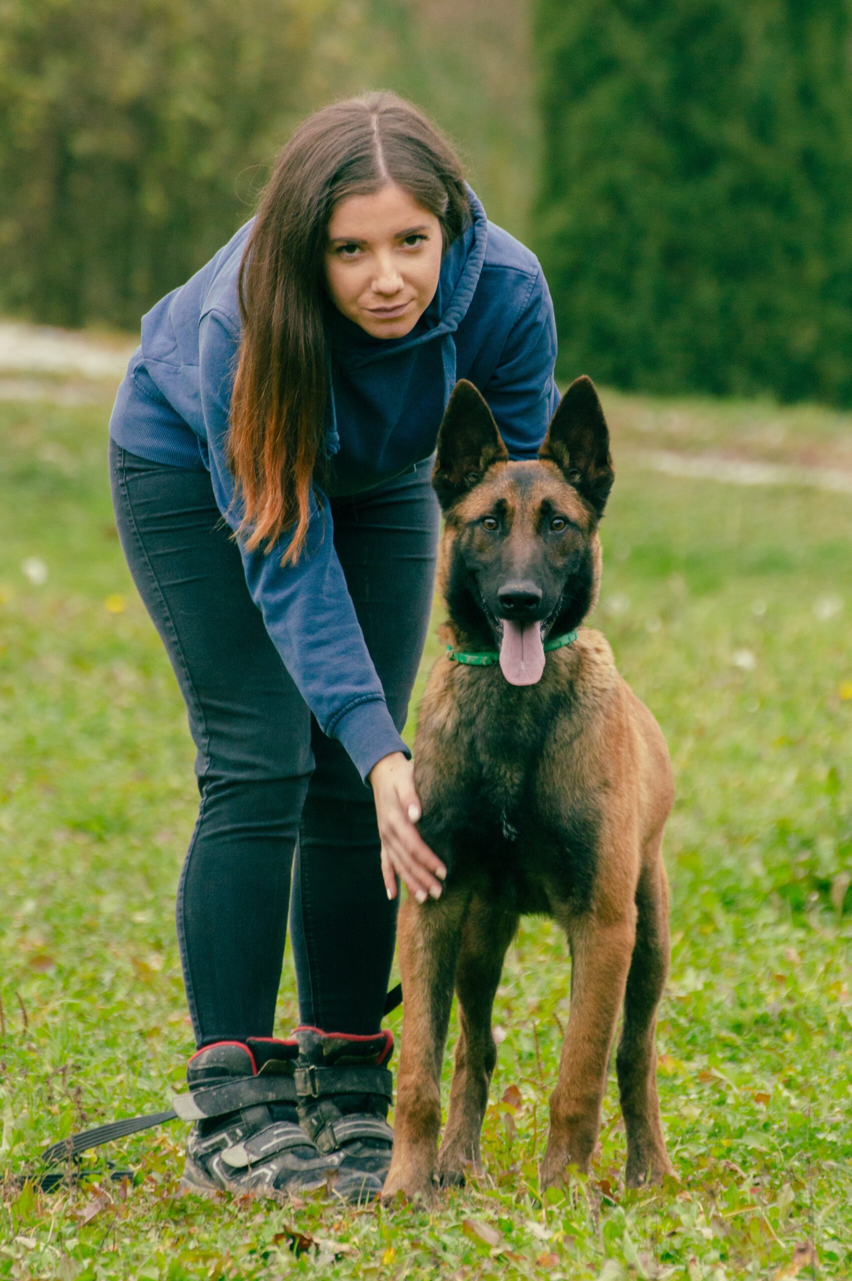
[[[537,0],[562,373],[852,404],[848,0]]]

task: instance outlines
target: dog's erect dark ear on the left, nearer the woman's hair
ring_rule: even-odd
[[[456,383],[438,432],[432,484],[442,507],[451,507],[478,484],[488,468],[509,460],[484,397],[465,378]]]

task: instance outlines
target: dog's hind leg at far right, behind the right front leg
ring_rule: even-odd
[[[669,972],[669,894],[659,852],[642,870],[637,926],[616,1054],[628,1140],[627,1184],[659,1182],[671,1172],[657,1100],[656,1011]]]

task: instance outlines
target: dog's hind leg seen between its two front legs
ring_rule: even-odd
[[[464,1182],[466,1170],[479,1172],[479,1134],[497,1061],[491,1011],[506,948],[516,927],[516,912],[478,897],[471,901],[456,972],[459,1040],[450,1114],[438,1155],[438,1173],[445,1185]]]

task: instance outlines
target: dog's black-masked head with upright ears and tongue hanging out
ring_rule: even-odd
[[[509,460],[477,388],[456,386],[432,477],[446,516],[442,585],[460,643],[496,643],[511,684],[541,679],[542,642],[578,626],[593,605],[597,525],[612,480],[588,378],[571,383],[528,462]]]

